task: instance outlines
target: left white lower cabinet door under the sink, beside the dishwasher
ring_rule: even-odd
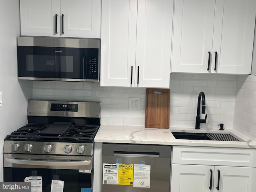
[[[171,192],[212,192],[213,176],[214,166],[172,164]]]

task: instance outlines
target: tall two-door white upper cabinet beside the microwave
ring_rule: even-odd
[[[169,88],[173,0],[102,0],[101,86]]]

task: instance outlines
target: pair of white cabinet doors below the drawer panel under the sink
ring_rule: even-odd
[[[171,192],[255,192],[256,168],[172,165]]]

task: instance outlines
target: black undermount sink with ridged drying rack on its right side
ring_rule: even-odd
[[[212,141],[242,141],[228,133],[190,133],[190,132],[172,132],[176,139],[189,140],[212,140]]]

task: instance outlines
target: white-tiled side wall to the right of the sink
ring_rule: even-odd
[[[234,129],[256,140],[256,76],[237,76]]]

